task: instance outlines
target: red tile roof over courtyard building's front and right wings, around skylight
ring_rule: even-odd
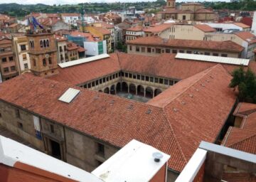
[[[26,73],[0,85],[0,100],[114,146],[122,147],[137,139],[171,154],[169,168],[181,171],[201,140],[213,142],[218,136],[235,103],[229,82],[230,75],[221,65],[216,65],[174,85],[174,90],[190,86],[162,108],[153,106],[152,102],[127,100]],[[80,90],[69,104],[58,100],[68,87]],[[165,92],[169,97],[174,94],[171,89]],[[127,109],[129,105],[132,109]]]

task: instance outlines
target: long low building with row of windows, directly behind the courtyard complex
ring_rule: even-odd
[[[165,39],[159,36],[137,38],[127,42],[130,54],[160,55],[161,53],[190,53],[241,58],[244,48],[233,41],[195,41]]]

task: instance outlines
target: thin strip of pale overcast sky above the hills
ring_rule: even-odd
[[[137,2],[138,0],[0,0],[0,4],[4,3],[17,3],[17,4],[78,4],[78,3],[85,3],[85,2],[106,2],[106,3],[113,3],[113,2]],[[141,0],[141,1],[155,1],[155,0]],[[181,2],[182,0],[177,0],[177,2]],[[186,0],[184,0],[186,1]],[[187,0],[188,1],[188,0]],[[192,0],[193,1],[193,0]],[[200,0],[199,0],[200,1]],[[202,1],[202,0],[201,0]],[[206,0],[209,1],[209,0]],[[212,0],[212,1],[227,1],[227,0]]]

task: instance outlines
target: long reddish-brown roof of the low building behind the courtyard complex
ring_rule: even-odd
[[[203,50],[218,50],[240,53],[244,48],[233,41],[196,41],[183,39],[164,39],[159,36],[136,38],[128,41],[127,44],[134,45],[156,45],[175,48],[198,48]]]

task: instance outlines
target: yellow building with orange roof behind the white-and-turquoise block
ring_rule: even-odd
[[[92,34],[99,36],[100,41],[106,41],[107,53],[112,52],[112,33],[109,30],[107,30],[107,28],[97,26],[86,26],[85,29]]]

